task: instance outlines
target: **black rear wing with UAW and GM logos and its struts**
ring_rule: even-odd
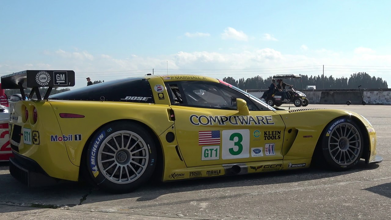
[[[75,86],[75,72],[73,70],[25,70],[1,77],[2,89],[19,89],[22,99],[26,99],[25,88],[31,88],[29,98],[34,95],[42,99],[39,87],[48,87],[43,99],[48,99],[53,87]]]

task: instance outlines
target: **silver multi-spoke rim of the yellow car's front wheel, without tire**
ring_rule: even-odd
[[[359,131],[349,123],[335,126],[328,138],[328,150],[332,159],[341,166],[352,164],[360,154]]]

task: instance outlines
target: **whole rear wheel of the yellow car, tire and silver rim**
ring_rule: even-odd
[[[147,182],[156,166],[156,146],[139,124],[110,123],[93,136],[87,168],[100,189],[128,193]]]

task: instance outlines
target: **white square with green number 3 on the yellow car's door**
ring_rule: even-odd
[[[250,157],[250,130],[222,131],[222,159],[238,159]]]

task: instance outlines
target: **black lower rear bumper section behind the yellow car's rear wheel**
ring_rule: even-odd
[[[9,159],[9,172],[18,181],[27,187],[52,186],[59,181],[49,175],[34,160],[14,153]]]

